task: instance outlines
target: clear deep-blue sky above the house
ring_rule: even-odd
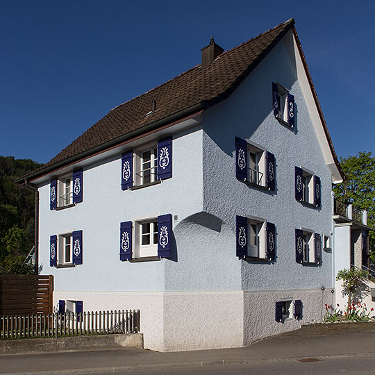
[[[375,156],[375,1],[0,0],[0,155],[46,163],[108,111],[294,17],[338,156]]]

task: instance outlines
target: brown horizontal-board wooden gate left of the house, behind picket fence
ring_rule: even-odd
[[[51,314],[52,275],[0,275],[0,315]]]

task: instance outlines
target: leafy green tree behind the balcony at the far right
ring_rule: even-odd
[[[375,228],[375,158],[371,152],[361,151],[356,156],[341,158],[340,164],[347,180],[333,187],[335,197],[367,210],[367,225]],[[372,260],[375,260],[375,232],[369,233]]]

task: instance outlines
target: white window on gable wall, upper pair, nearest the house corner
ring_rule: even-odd
[[[251,165],[251,153],[255,156]],[[247,181],[253,185],[265,187],[266,181],[266,150],[259,144],[247,141]]]

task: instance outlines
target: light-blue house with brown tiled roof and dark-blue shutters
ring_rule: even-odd
[[[139,308],[159,351],[241,347],[335,301],[343,174],[294,20],[201,53],[24,179],[54,303]]]

